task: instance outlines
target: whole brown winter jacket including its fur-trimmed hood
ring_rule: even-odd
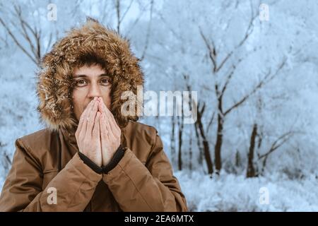
[[[72,73],[81,56],[98,56],[112,77],[110,111],[122,130],[124,156],[98,174],[78,155]],[[124,91],[143,85],[128,40],[97,21],[73,28],[42,59],[38,111],[47,129],[16,141],[0,196],[0,211],[186,211],[187,203],[157,131],[122,115]],[[138,108],[139,104],[135,107]],[[52,195],[57,194],[57,204]],[[54,198],[53,198],[54,201]]]

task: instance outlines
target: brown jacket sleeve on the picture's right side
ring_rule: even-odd
[[[187,211],[187,202],[156,134],[146,165],[126,148],[104,182],[123,211]]]

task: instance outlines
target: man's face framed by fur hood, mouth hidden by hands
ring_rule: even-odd
[[[102,97],[105,105],[110,109],[112,88],[110,76],[99,65],[82,66],[73,73],[75,86],[73,88],[73,107],[76,119],[79,121],[81,114],[94,97]]]

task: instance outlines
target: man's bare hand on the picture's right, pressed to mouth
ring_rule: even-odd
[[[100,141],[102,145],[102,165],[107,165],[120,145],[121,131],[112,112],[100,99],[98,110],[100,115]]]

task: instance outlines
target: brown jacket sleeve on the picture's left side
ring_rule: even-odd
[[[0,196],[0,211],[83,211],[102,175],[85,165],[76,153],[42,190],[40,160],[25,147],[23,141],[16,141],[16,153]]]

